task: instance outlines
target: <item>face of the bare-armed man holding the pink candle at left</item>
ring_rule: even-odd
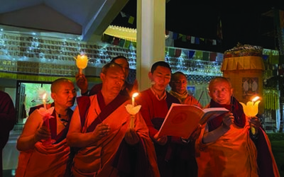
[[[58,84],[58,89],[55,93],[51,93],[55,105],[59,105],[61,108],[70,108],[75,103],[77,96],[74,84],[70,81],[64,81]]]

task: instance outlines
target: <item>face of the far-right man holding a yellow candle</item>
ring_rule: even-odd
[[[233,89],[227,81],[214,81],[209,88],[209,96],[213,101],[221,105],[229,105],[231,103],[231,95]]]

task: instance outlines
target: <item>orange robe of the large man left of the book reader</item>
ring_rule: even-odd
[[[97,119],[97,115],[102,111],[97,101],[97,95],[90,96],[90,100],[91,104],[87,111],[82,132],[87,132],[87,128]],[[119,171],[113,166],[113,162],[116,158],[116,152],[124,140],[126,130],[130,126],[130,114],[127,113],[125,108],[127,104],[131,104],[130,101],[121,104],[103,120],[111,128],[109,135],[100,139],[99,142],[90,144],[89,147],[80,149],[75,154],[74,165],[72,166],[74,176],[119,176]],[[78,118],[79,116],[79,111],[75,110],[73,118]],[[134,125],[134,129],[141,138],[141,142],[139,143],[143,144],[143,153],[148,157],[148,162],[151,166],[150,170],[153,171],[153,176],[159,176],[153,142],[149,137],[147,125],[140,113],[136,114]]]

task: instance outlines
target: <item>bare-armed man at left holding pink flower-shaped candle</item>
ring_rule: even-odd
[[[76,90],[72,81],[65,78],[53,81],[50,89],[54,101],[46,105],[47,109],[54,108],[50,118],[43,121],[44,116],[39,112],[43,110],[43,105],[38,105],[38,109],[28,117],[18,138],[16,147],[20,155],[16,176],[50,177],[65,174],[70,155],[66,135],[73,113],[70,107],[75,103]],[[47,143],[50,138],[54,142]],[[65,175],[68,173],[66,171]]]

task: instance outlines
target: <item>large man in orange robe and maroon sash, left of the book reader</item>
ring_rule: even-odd
[[[119,94],[124,70],[108,63],[100,74],[102,90],[77,98],[67,143],[77,147],[74,176],[159,176],[153,142],[140,113],[130,128],[129,97]]]

